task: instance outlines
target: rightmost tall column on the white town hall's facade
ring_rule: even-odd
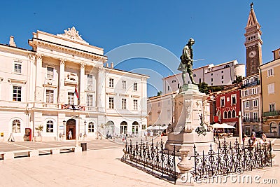
[[[106,75],[103,67],[98,68],[98,79],[97,79],[97,99],[96,107],[99,112],[105,112],[106,108]]]

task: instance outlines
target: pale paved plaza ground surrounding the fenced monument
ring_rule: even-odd
[[[159,139],[159,138],[158,138]],[[158,139],[155,139],[157,141]],[[229,140],[229,139],[228,139]],[[275,142],[279,141],[276,139]],[[37,148],[39,146],[71,146],[74,141],[62,142],[13,142],[0,144],[1,151],[16,148]],[[276,162],[280,163],[280,151]],[[57,155],[0,160],[0,186],[174,186],[137,168],[120,161],[123,144],[108,139],[87,141],[87,151]],[[277,179],[280,182],[280,167],[267,167],[242,175],[260,176],[263,179]],[[196,186],[225,186],[225,183],[197,183]],[[228,179],[227,186],[236,186]],[[239,186],[279,186],[279,184],[238,183]]]

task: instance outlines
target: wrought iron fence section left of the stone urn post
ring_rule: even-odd
[[[156,176],[161,174],[162,178],[167,176],[170,181],[176,183],[178,173],[176,172],[175,146],[174,151],[168,151],[165,150],[162,141],[145,144],[141,140],[141,144],[132,145],[130,140],[130,144],[125,144],[123,151],[125,153],[121,159],[123,162],[140,167],[140,169],[148,169],[148,172]]]

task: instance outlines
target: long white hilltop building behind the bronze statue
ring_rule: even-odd
[[[196,83],[207,83],[210,86],[231,85],[237,76],[245,76],[245,65],[238,64],[237,60],[225,62],[223,64],[209,64],[204,67],[193,69],[193,79]],[[162,78],[163,94],[175,92],[183,85],[182,74],[175,74]],[[186,78],[186,83],[190,83],[190,78]]]

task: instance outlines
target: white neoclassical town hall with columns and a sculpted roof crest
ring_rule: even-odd
[[[13,36],[0,44],[0,133],[8,141],[95,139],[146,130],[146,75],[109,67],[103,48],[75,27],[64,34],[37,31],[32,50]],[[38,131],[38,127],[43,130]],[[38,133],[39,132],[39,133]]]

